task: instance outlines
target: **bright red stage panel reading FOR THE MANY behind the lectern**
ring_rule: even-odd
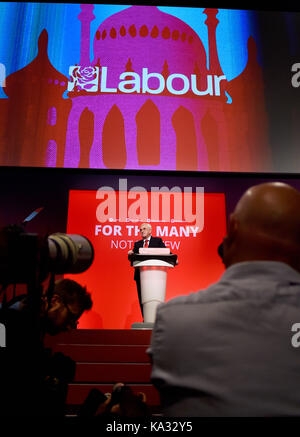
[[[224,270],[217,254],[226,233],[224,193],[203,193],[200,187],[193,192],[178,187],[165,192],[156,187],[72,190],[67,232],[85,235],[95,249],[86,272],[67,275],[86,285],[94,301],[79,328],[127,329],[142,321],[127,252],[140,239],[139,227],[145,221],[152,224],[153,235],[162,237],[178,255],[179,264],[168,273],[166,300],[219,279]]]

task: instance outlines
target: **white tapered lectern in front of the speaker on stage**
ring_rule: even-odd
[[[140,270],[141,299],[144,323],[134,323],[132,328],[151,328],[155,322],[157,306],[165,301],[167,272],[174,268],[177,255],[168,248],[141,248],[139,254],[129,255],[134,268]]]

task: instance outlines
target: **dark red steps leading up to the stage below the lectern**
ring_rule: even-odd
[[[151,330],[78,329],[47,337],[45,345],[76,362],[69,385],[67,409],[76,412],[91,389],[111,392],[116,382],[128,384],[134,393],[143,392],[152,411],[159,411],[159,396],[150,383],[151,364],[146,350]]]

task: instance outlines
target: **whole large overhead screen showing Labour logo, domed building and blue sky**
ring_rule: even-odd
[[[0,165],[299,171],[299,40],[299,13],[1,2]]]

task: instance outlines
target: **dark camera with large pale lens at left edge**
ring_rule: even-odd
[[[94,259],[90,241],[81,235],[56,233],[48,237],[11,225],[0,230],[0,284],[43,281],[49,273],[81,273]]]

